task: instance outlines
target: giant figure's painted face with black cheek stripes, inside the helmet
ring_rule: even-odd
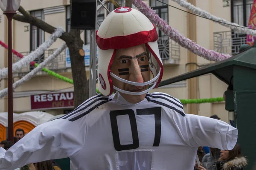
[[[111,79],[113,86],[119,89],[120,94],[130,103],[137,103],[145,98],[145,91],[148,90],[149,85],[132,85],[133,83],[129,82],[144,83],[150,81],[148,59],[144,44],[116,50],[111,66]],[[134,95],[134,93],[138,95]]]

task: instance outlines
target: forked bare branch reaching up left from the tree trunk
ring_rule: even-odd
[[[55,27],[49,25],[48,23],[44,22],[43,20],[33,17],[32,15],[27,13],[22,6],[20,6],[18,11],[20,11],[20,13],[23,14],[23,16],[16,14],[14,17],[15,20],[23,22],[23,23],[32,24],[33,26],[36,26],[36,27],[46,31],[49,34],[52,34],[55,31],[55,29],[56,29]],[[64,40],[67,44],[73,43],[75,40],[74,37],[67,32],[64,32],[61,35],[60,39]]]

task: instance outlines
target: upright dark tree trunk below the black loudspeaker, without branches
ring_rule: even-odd
[[[68,48],[74,82],[74,107],[76,108],[89,98],[89,83],[85,71],[84,55],[81,56],[79,53],[84,44],[80,37],[80,30],[71,29],[70,34],[75,38],[74,43],[68,44]]]

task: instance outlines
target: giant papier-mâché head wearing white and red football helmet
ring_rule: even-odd
[[[99,92],[108,96],[116,89],[136,103],[157,88],[163,76],[157,39],[156,28],[140,11],[120,7],[108,14],[96,31]]]

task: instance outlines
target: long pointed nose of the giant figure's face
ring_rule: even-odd
[[[144,82],[141,71],[140,65],[138,62],[134,62],[133,68],[131,68],[131,72],[129,74],[129,81],[131,82]],[[143,86],[136,86],[136,88],[140,89]]]

